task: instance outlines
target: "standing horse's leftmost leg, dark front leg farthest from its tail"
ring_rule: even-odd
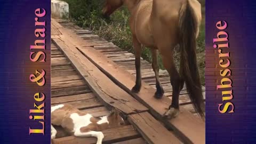
[[[136,82],[132,87],[132,92],[139,92],[141,88],[141,71],[140,71],[140,55],[142,46],[138,39],[133,36],[132,38],[133,48],[135,51],[135,69],[136,69]]]

